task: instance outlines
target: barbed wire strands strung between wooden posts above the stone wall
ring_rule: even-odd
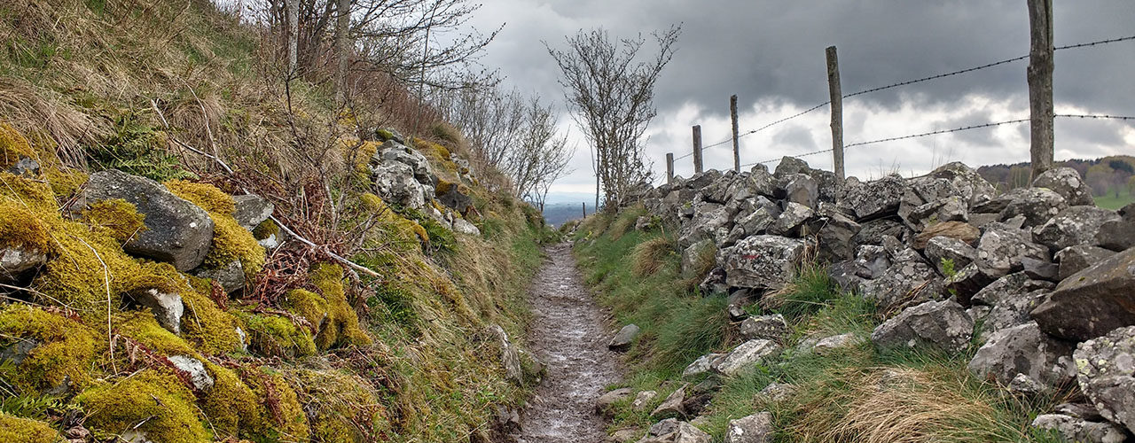
[[[1054,51],[1062,51],[1062,50],[1069,50],[1069,49],[1091,48],[1091,46],[1107,45],[1107,44],[1120,43],[1120,42],[1129,42],[1129,41],[1135,41],[1135,35],[1121,36],[1121,37],[1115,37],[1115,39],[1105,39],[1105,40],[1098,40],[1098,41],[1092,41],[1092,42],[1068,44],[1068,45],[1061,45],[1061,46],[1053,46],[1053,48],[1051,48],[1051,51],[1054,52]],[[935,74],[935,75],[932,75],[932,76],[915,78],[915,79],[910,79],[910,80],[897,82],[897,83],[892,83],[892,84],[884,85],[884,86],[871,87],[871,88],[857,91],[857,92],[854,92],[854,93],[850,93],[850,94],[841,94],[841,95],[834,95],[833,94],[832,96],[833,96],[833,100],[834,100],[835,96],[839,96],[840,100],[842,101],[842,99],[851,99],[851,97],[867,95],[867,94],[872,94],[872,93],[876,93],[876,92],[881,92],[881,91],[886,91],[886,90],[892,90],[892,88],[898,88],[898,87],[915,85],[915,84],[919,84],[919,83],[925,83],[925,82],[932,82],[932,80],[936,80],[936,79],[942,79],[942,78],[947,78],[947,77],[952,77],[952,76],[958,76],[958,75],[975,73],[975,71],[980,71],[980,70],[984,70],[984,69],[990,69],[990,68],[999,67],[999,66],[1002,66],[1002,65],[1012,63],[1012,62],[1016,62],[1016,61],[1026,60],[1026,59],[1029,59],[1029,58],[1031,58],[1031,54],[1020,56],[1020,57],[1014,57],[1014,58],[1009,58],[1009,59],[1004,59],[1004,60],[998,60],[998,61],[994,61],[994,62],[984,63],[984,65],[974,66],[974,67],[964,68],[964,69],[958,69],[958,70],[953,70],[953,71],[949,71],[949,73]],[[830,69],[831,69],[831,67],[830,67]],[[835,82],[838,82],[838,74],[836,74],[836,80]],[[809,114],[809,113],[812,113],[814,111],[817,111],[817,110],[819,110],[819,109],[822,109],[824,107],[829,107],[831,104],[832,104],[831,101],[824,101],[823,103],[817,103],[817,104],[815,104],[815,105],[813,105],[813,107],[810,107],[810,108],[808,108],[808,109],[806,109],[804,111],[800,111],[800,112],[797,112],[797,113],[793,113],[793,114],[790,114],[790,116],[787,116],[787,117],[773,120],[773,121],[771,121],[768,123],[765,123],[765,125],[759,126],[759,127],[754,128],[754,129],[741,131],[741,133],[739,133],[735,136],[735,138],[734,138],[734,136],[730,136],[729,138],[725,138],[725,139],[723,139],[721,142],[713,143],[713,144],[705,145],[705,146],[700,145],[700,126],[696,126],[695,127],[696,128],[695,129],[695,139],[693,139],[693,147],[695,148],[692,151],[690,151],[690,152],[688,152],[688,153],[686,153],[683,155],[676,156],[676,157],[673,156],[673,154],[667,154],[667,156],[666,156],[666,161],[667,161],[667,164],[666,164],[666,171],[667,171],[666,180],[667,180],[667,182],[669,181],[673,181],[673,170],[674,170],[673,162],[674,161],[688,159],[690,156],[696,156],[696,160],[695,160],[695,173],[701,172],[700,171],[700,167],[703,164],[703,161],[701,161],[700,156],[703,154],[703,151],[709,150],[709,148],[714,148],[714,147],[717,147],[717,146],[722,146],[722,145],[725,145],[725,144],[733,143],[733,146],[734,146],[734,153],[733,153],[733,155],[737,156],[737,155],[739,155],[739,152],[735,151],[735,150],[738,150],[738,144],[734,143],[735,139],[740,139],[740,138],[743,138],[746,136],[750,136],[750,135],[754,135],[754,134],[758,134],[758,133],[768,130],[768,129],[774,128],[774,127],[776,127],[776,126],[779,126],[781,123],[784,123],[787,121],[791,121],[791,120],[801,118],[804,116],[807,116],[807,114]],[[1124,121],[1135,120],[1135,117],[1133,117],[1133,116],[1112,116],[1112,114],[1053,113],[1052,117],[1053,118],[1068,118],[1068,119],[1093,119],[1093,120],[1124,120]],[[1000,126],[1014,125],[1014,123],[1023,123],[1023,122],[1028,122],[1028,121],[1032,121],[1032,118],[1022,118],[1022,119],[1012,119],[1012,120],[1004,120],[1004,121],[994,121],[994,122],[986,122],[986,123],[980,123],[980,125],[970,125],[970,126],[965,126],[965,127],[950,128],[950,129],[941,129],[941,130],[933,130],[933,131],[926,131],[926,133],[919,133],[919,134],[909,134],[909,135],[894,136],[894,137],[885,137],[885,138],[873,139],[873,140],[855,142],[855,143],[841,144],[840,151],[846,150],[846,148],[850,148],[850,147],[858,147],[858,146],[865,146],[865,145],[880,144],[880,143],[889,143],[889,142],[898,142],[898,140],[905,140],[905,139],[911,139],[911,138],[928,137],[928,136],[934,136],[934,135],[951,134],[951,133],[959,133],[959,131],[974,130],[974,129],[1000,127]],[[735,125],[735,121],[734,121],[734,125]],[[840,130],[840,133],[842,133],[842,128],[839,128],[839,130]],[[834,153],[835,151],[836,151],[835,147],[831,147],[831,148],[826,148],[826,150],[817,150],[817,151],[798,153],[798,154],[794,154],[792,156],[794,156],[794,157],[806,157],[806,156],[818,155],[818,154],[824,154],[824,153]],[[842,152],[840,154],[842,154]],[[777,162],[780,160],[781,159],[770,159],[770,160],[762,160],[762,161],[755,161],[755,162],[749,162],[749,163],[741,163],[741,164],[737,165],[737,168],[740,169],[740,168],[753,167],[753,165],[756,165],[756,164],[767,164],[767,163]],[[842,163],[842,159],[839,159],[839,162]]]

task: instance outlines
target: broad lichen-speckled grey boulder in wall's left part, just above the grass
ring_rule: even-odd
[[[730,287],[780,289],[792,281],[804,252],[804,240],[753,236],[718,250],[717,263]]]

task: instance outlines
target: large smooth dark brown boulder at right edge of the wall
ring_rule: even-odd
[[[1075,341],[1135,324],[1135,248],[1061,281],[1033,318],[1044,332]]]

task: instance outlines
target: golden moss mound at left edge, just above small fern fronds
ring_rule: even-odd
[[[0,338],[39,342],[8,380],[26,392],[50,390],[66,383],[83,386],[94,357],[106,344],[76,320],[23,304],[0,310]],[[9,341],[10,344],[12,341]]]

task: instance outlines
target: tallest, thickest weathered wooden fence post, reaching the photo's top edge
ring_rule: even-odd
[[[1032,178],[1052,169],[1052,0],[1028,0],[1028,109]],[[1032,181],[1032,180],[1029,180]]]

